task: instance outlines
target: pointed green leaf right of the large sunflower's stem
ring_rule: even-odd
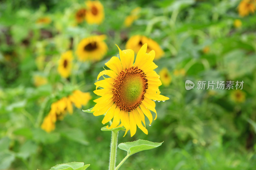
[[[132,155],[132,154],[140,152],[140,151],[156,148],[156,147],[160,146],[162,143],[154,143],[154,142],[150,142],[147,140],[139,139],[139,140],[133,141],[133,142],[121,143],[118,145],[118,148],[120,148],[124,151],[127,151],[128,155]]]

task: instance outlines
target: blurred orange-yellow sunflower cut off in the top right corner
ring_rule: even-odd
[[[240,16],[244,17],[249,15],[249,13],[254,13],[255,11],[255,0],[243,0],[238,5],[238,13]]]

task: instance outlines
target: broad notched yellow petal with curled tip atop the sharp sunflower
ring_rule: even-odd
[[[118,46],[117,48],[119,49],[123,69],[132,67],[134,61],[134,51],[132,49],[121,50]]]

